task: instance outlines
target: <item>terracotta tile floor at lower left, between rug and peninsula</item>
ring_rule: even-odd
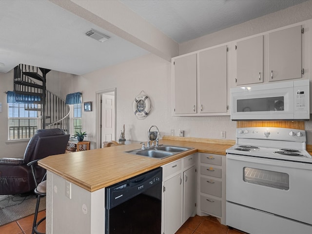
[[[38,213],[37,220],[45,216],[45,211]],[[0,234],[31,234],[33,227],[34,215],[29,215],[27,217],[21,218],[12,223],[8,223],[0,226]],[[38,231],[45,233],[45,220],[40,223]]]

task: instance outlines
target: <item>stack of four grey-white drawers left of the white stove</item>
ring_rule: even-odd
[[[221,217],[222,194],[225,194],[225,168],[221,155],[199,153],[200,156],[200,209],[210,215]],[[224,170],[224,171],[223,171]],[[224,190],[224,191],[223,191]],[[223,193],[224,192],[224,193]]]

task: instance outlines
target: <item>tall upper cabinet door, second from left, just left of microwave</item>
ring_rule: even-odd
[[[200,113],[227,112],[227,46],[198,53],[198,108]]]

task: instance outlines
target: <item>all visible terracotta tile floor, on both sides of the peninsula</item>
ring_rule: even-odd
[[[38,220],[45,216],[45,211],[38,214]],[[31,234],[34,215],[29,215],[15,222],[0,226],[0,234]],[[45,220],[39,225],[39,232],[45,232]],[[212,216],[190,217],[176,234],[244,234],[235,229],[229,229]]]

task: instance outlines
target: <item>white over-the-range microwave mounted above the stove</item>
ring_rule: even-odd
[[[231,119],[310,119],[309,79],[232,88]]]

